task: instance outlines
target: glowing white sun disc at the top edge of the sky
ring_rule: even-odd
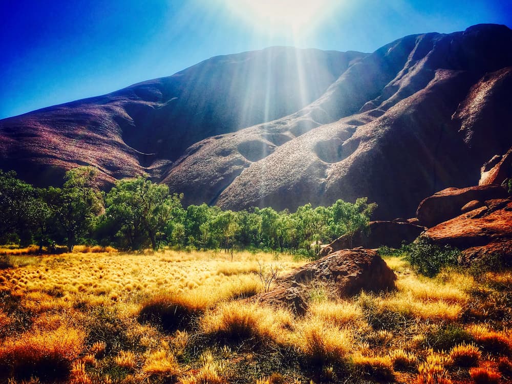
[[[311,30],[332,11],[333,0],[225,0],[228,10],[269,34]]]

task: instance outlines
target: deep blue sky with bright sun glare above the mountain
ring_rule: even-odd
[[[216,55],[274,45],[372,52],[404,35],[479,23],[512,27],[512,1],[0,0],[0,118]]]

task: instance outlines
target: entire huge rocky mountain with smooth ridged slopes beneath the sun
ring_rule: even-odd
[[[185,204],[231,209],[368,196],[379,217],[409,217],[437,190],[478,184],[512,146],[511,105],[505,26],[369,55],[271,48],[1,120],[0,166],[39,183],[79,164],[105,182],[146,172]]]

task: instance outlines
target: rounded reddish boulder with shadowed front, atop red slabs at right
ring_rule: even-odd
[[[418,206],[416,216],[425,227],[453,219],[466,210],[466,204],[506,198],[508,193],[499,185],[480,185],[467,188],[446,188],[430,196]],[[475,202],[476,201],[476,202]]]

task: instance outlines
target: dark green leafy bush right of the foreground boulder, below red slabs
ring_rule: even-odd
[[[414,243],[404,246],[403,250],[406,253],[406,260],[419,273],[430,278],[439,273],[443,267],[457,265],[460,255],[460,250],[457,248],[447,245],[439,247],[424,238],[418,238]]]

